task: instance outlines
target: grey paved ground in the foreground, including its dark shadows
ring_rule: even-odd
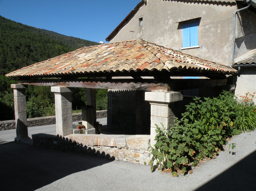
[[[227,149],[192,174],[172,177],[150,166],[9,142],[0,144],[0,190],[256,190],[256,131],[229,143],[237,143],[233,155]]]

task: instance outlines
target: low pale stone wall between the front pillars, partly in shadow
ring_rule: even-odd
[[[32,135],[33,143],[51,149],[89,153],[115,160],[149,164],[150,135]]]

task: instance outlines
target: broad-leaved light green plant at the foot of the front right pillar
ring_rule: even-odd
[[[167,131],[163,126],[156,126],[157,141],[154,148],[151,147],[152,159],[150,160],[151,172],[155,167],[171,169],[173,176],[178,176],[179,170],[187,172],[190,160],[195,154],[195,143],[192,140],[191,129],[177,122]],[[153,165],[156,161],[156,165]]]

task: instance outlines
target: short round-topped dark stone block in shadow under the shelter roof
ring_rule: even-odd
[[[96,134],[96,129],[94,128],[94,118],[96,118],[96,113],[94,113],[93,106],[83,106],[82,108],[82,125],[85,126],[85,134]]]

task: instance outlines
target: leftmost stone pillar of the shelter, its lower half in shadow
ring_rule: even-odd
[[[26,88],[27,85],[11,84],[14,98],[15,126],[17,142],[26,142],[31,140],[28,137],[27,127],[27,106],[26,106]]]

